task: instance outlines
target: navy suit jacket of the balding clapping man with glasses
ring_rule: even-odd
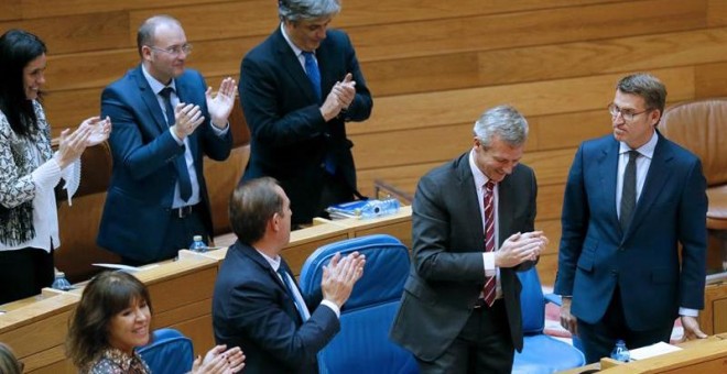
[[[228,131],[223,138],[210,129],[205,91],[207,85],[199,73],[186,69],[175,78],[181,102],[199,106],[205,122],[188,136],[199,183],[203,219],[213,233],[209,199],[203,173],[203,156],[223,161],[232,147]],[[129,70],[101,94],[101,117],[112,123],[109,145],[113,172],[106,197],[97,238],[98,245],[137,261],[155,261],[158,253],[175,251],[163,243],[172,219],[170,208],[177,175],[174,161],[185,146],[169,131],[163,111],[144,78],[141,66]]]

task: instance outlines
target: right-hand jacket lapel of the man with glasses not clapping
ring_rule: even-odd
[[[639,201],[637,201],[636,211],[633,212],[631,226],[629,226],[627,233],[636,230],[641,224],[647,212],[657,200],[657,197],[664,189],[663,186],[666,185],[668,179],[672,176],[669,163],[674,158],[674,154],[671,147],[669,147],[666,140],[659,132],[657,133],[659,135],[659,142],[654,148],[654,155],[647,173],[647,180],[644,180]]]

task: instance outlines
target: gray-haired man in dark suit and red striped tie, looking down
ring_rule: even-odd
[[[501,106],[474,132],[473,148],[422,177],[414,195],[413,261],[391,338],[422,373],[510,373],[522,349],[516,271],[547,243],[533,232],[535,175],[519,163],[528,122]]]

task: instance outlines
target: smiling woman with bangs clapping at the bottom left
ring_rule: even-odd
[[[150,373],[137,354],[149,343],[152,306],[147,286],[124,272],[104,272],[84,289],[70,318],[66,353],[82,373]],[[192,373],[237,373],[245,355],[236,346],[217,345],[204,360],[194,361]]]

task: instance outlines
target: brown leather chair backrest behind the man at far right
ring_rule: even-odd
[[[669,140],[699,156],[708,186],[727,183],[727,98],[669,107],[658,129]]]

